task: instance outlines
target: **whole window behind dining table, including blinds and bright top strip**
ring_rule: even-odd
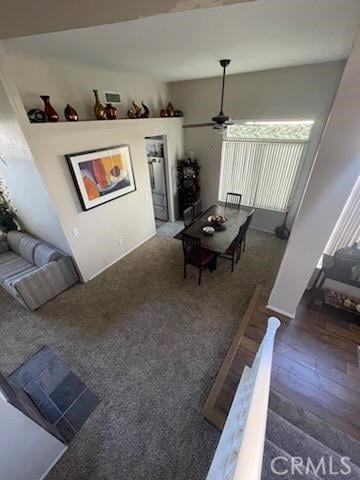
[[[291,203],[312,121],[246,122],[228,126],[223,141],[219,200],[242,194],[251,207],[285,212]]]

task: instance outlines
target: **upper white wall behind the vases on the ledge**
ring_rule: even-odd
[[[103,104],[103,91],[119,91],[123,101],[119,108],[122,118],[127,118],[132,100],[139,106],[143,100],[153,117],[159,117],[160,109],[169,101],[167,84],[150,77],[9,55],[6,64],[26,111],[43,108],[39,95],[50,95],[50,102],[61,119],[67,103],[75,108],[81,120],[95,119],[93,89],[99,90]]]

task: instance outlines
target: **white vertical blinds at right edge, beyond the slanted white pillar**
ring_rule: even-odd
[[[360,243],[360,177],[341,212],[324,253],[333,255],[339,248],[350,247],[355,242]]]

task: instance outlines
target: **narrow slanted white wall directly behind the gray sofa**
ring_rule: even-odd
[[[0,173],[17,207],[21,226],[62,250],[71,253],[52,200],[10,103],[0,52]],[[9,93],[10,95],[10,93]]]

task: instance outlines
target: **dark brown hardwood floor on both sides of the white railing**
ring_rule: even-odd
[[[274,314],[265,305],[266,296],[257,289],[205,404],[204,416],[219,428]],[[308,307],[304,298],[295,319],[280,319],[272,388],[360,440],[360,317]]]

